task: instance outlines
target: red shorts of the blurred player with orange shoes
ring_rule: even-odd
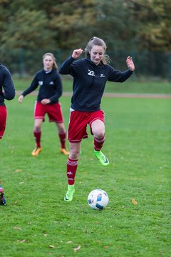
[[[43,119],[45,121],[45,114],[48,114],[49,122],[63,123],[63,115],[61,104],[41,104],[36,101],[34,106],[34,119]]]

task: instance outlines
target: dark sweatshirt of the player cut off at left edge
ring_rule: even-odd
[[[11,74],[4,65],[0,64],[0,106],[5,106],[4,99],[14,99],[15,94]]]

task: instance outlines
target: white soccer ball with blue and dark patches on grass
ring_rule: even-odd
[[[88,205],[94,210],[103,210],[108,205],[108,193],[102,189],[95,189],[88,195]]]

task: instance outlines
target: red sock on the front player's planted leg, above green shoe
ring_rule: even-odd
[[[68,184],[69,185],[74,184],[77,166],[78,166],[78,160],[72,160],[71,158],[68,158],[68,161],[67,161],[67,178],[68,178]]]

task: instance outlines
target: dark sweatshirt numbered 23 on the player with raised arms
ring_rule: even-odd
[[[95,65],[90,58],[74,60],[72,56],[66,59],[59,67],[59,73],[73,76],[71,108],[77,111],[100,110],[106,82],[123,82],[133,74],[130,69],[117,71],[102,61]]]

